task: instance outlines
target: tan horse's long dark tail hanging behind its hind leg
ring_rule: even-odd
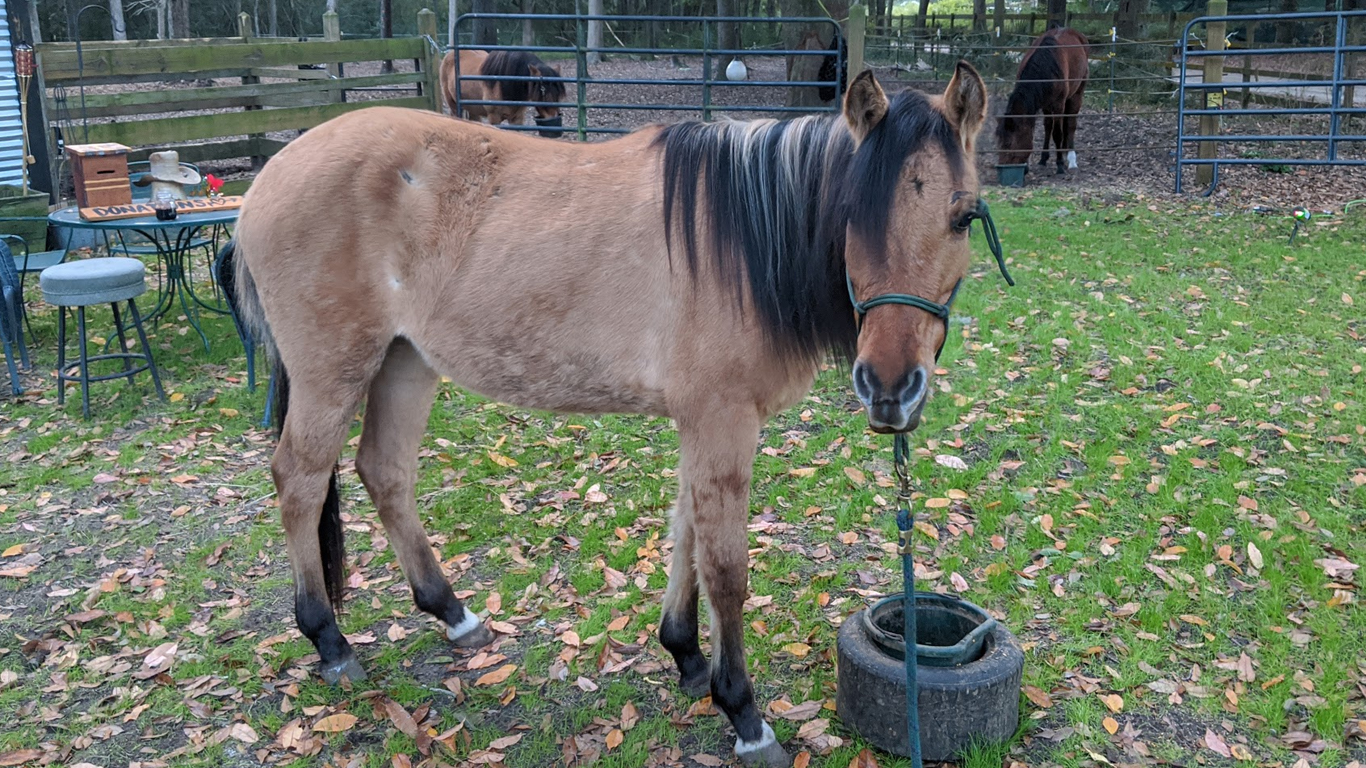
[[[240,228],[238,231],[240,235]],[[236,238],[228,241],[219,251],[216,277],[228,298],[234,318],[265,350],[270,366],[270,385],[275,388],[275,429],[284,433],[284,421],[290,413],[290,374],[280,361],[280,350],[270,333],[255,280],[246,261],[239,261]],[[337,471],[333,467],[328,481],[328,495],[322,502],[322,517],[318,518],[318,553],[322,559],[322,579],[326,584],[328,600],[332,608],[342,609],[342,593],[346,586],[346,537],[342,530],[342,493],[337,489]]]

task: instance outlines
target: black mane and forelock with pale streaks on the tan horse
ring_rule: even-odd
[[[747,294],[770,342],[809,358],[825,350],[851,355],[856,342],[846,228],[885,245],[902,168],[926,145],[943,150],[955,175],[966,164],[953,128],[912,90],[892,100],[858,149],[840,116],[679,123],[654,145],[664,150],[671,257],[682,234],[695,276],[705,232],[717,273],[738,301]]]

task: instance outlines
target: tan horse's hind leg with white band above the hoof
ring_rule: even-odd
[[[380,511],[413,601],[445,622],[447,637],[456,645],[477,648],[490,642],[493,634],[451,592],[432,555],[414,496],[418,447],[438,381],[406,339],[389,346],[380,374],[370,383],[355,470]]]

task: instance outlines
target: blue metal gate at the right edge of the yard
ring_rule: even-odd
[[[1306,48],[1243,48],[1243,49],[1223,49],[1223,51],[1188,51],[1188,41],[1191,38],[1191,27],[1197,25],[1206,25],[1209,22],[1232,22],[1232,23],[1247,23],[1247,22],[1276,22],[1276,23],[1295,23],[1305,20],[1328,20],[1333,29],[1333,44],[1332,45],[1318,45]],[[1348,45],[1347,31],[1348,23],[1356,20],[1361,25],[1366,25],[1366,11],[1320,11],[1311,14],[1250,14],[1238,16],[1201,16],[1193,19],[1182,30],[1180,46],[1182,46],[1182,66],[1180,66],[1180,85],[1177,89],[1177,115],[1176,115],[1176,191],[1182,191],[1182,171],[1186,165],[1213,165],[1213,182],[1210,183],[1210,190],[1218,184],[1218,167],[1220,165],[1366,165],[1366,157],[1343,157],[1339,149],[1344,143],[1362,142],[1366,141],[1366,134],[1343,133],[1343,118],[1351,115],[1366,115],[1366,107],[1358,107],[1358,104],[1366,104],[1362,97],[1366,96],[1366,89],[1358,90],[1356,86],[1366,86],[1366,79],[1350,79],[1350,72],[1347,71],[1347,55],[1348,53],[1362,53],[1366,52],[1366,45]],[[1201,82],[1188,81],[1188,61],[1191,59],[1209,60],[1214,56],[1277,56],[1277,55],[1324,55],[1330,53],[1333,59],[1330,77],[1324,77],[1321,79],[1310,79],[1310,74],[1306,72],[1302,79],[1270,79],[1259,82],[1249,82],[1249,78],[1243,78],[1240,82],[1203,82],[1205,68],[1201,67]],[[1232,70],[1227,70],[1232,71]],[[1228,109],[1224,105],[1225,89],[1236,87],[1242,89],[1244,94],[1249,89],[1314,89],[1326,90],[1325,104],[1322,107],[1268,107],[1264,109],[1250,109],[1247,108],[1247,98],[1242,108]],[[1188,109],[1186,107],[1186,93],[1188,90],[1206,93],[1206,105],[1199,109]],[[1274,93],[1262,90],[1261,93]],[[1350,96],[1348,96],[1350,94]],[[1350,101],[1347,101],[1350,98]],[[1251,115],[1251,116],[1276,116],[1276,115],[1324,115],[1328,118],[1328,128],[1322,134],[1201,134],[1201,133],[1187,133],[1186,118],[1187,116],[1236,116],[1236,115]],[[1197,120],[1198,122],[1198,120]],[[1242,143],[1266,143],[1268,146],[1284,146],[1279,142],[1322,142],[1324,152],[1321,157],[1218,157],[1216,149],[1214,157],[1190,157],[1186,152],[1187,142],[1195,142],[1197,146],[1201,143],[1209,145],[1228,142],[1242,142]]]

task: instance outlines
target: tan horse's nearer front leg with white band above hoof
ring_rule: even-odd
[[[687,496],[679,512],[691,517],[695,567],[712,609],[712,701],[735,727],[740,760],[787,768],[791,757],[759,715],[744,666],[746,522],[759,424],[753,410],[679,418],[680,489]]]

